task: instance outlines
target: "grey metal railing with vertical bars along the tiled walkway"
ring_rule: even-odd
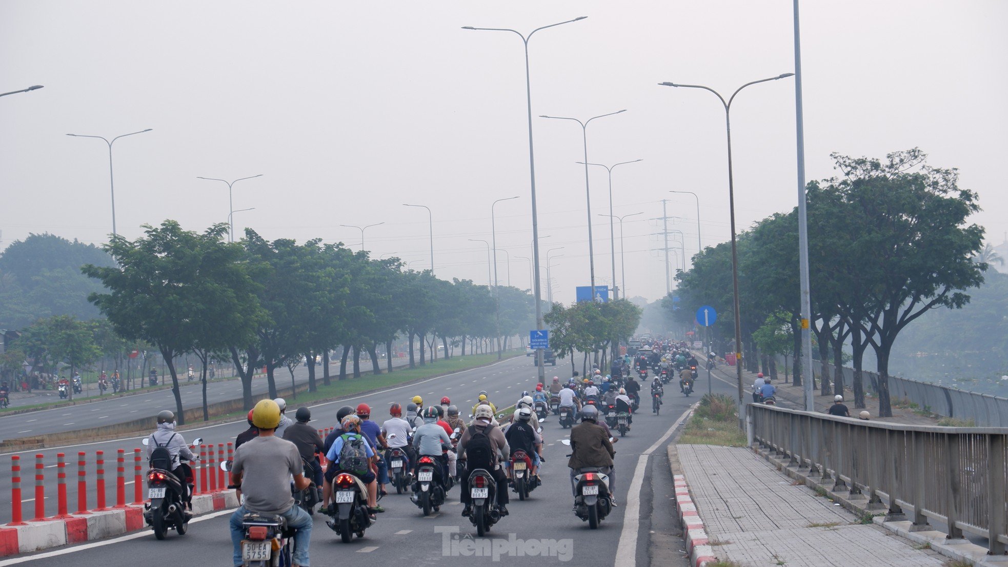
[[[835,492],[866,495],[890,520],[912,519],[911,531],[930,529],[923,528],[930,518],[950,539],[987,538],[990,554],[1004,555],[1008,428],[869,422],[762,404],[749,410],[751,441],[822,475]]]

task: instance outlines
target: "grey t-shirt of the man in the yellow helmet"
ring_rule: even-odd
[[[301,474],[297,447],[270,435],[256,437],[235,449],[232,472],[242,473],[245,510],[258,514],[283,514],[294,505],[290,476]]]

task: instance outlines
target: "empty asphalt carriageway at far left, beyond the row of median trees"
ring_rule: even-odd
[[[393,367],[401,367],[408,364],[409,359],[399,359],[392,362]],[[368,361],[367,368],[371,368],[370,360]],[[382,368],[384,369],[384,367]],[[334,365],[334,370],[338,371],[339,365]],[[290,385],[290,374],[286,369],[278,369],[274,373],[274,377],[278,388]],[[321,383],[321,367],[316,367],[316,377]],[[305,384],[307,381],[308,371],[305,367],[294,369],[294,382],[296,384]],[[202,383],[197,381],[184,382],[183,379],[178,387],[181,392],[182,407],[203,407]],[[252,380],[253,394],[268,391],[269,386],[265,376]],[[52,394],[51,392],[47,393]],[[55,396],[55,394],[52,395]],[[239,399],[241,397],[242,383],[238,379],[207,383],[207,402],[210,404]],[[0,439],[33,437],[45,433],[58,433],[74,429],[125,423],[134,419],[157,415],[157,412],[164,409],[171,411],[175,409],[175,397],[170,389],[147,392],[133,390],[123,396],[113,397],[107,395],[101,401],[82,402],[73,406],[61,406],[49,410],[0,417]]]

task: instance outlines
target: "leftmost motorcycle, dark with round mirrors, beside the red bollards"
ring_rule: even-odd
[[[150,437],[144,437],[142,443],[149,445]],[[203,439],[197,438],[190,446],[196,448],[201,443],[203,443]],[[167,451],[161,452],[166,453]],[[185,477],[178,478],[171,471],[170,456],[164,458],[163,455],[158,455],[156,449],[151,453],[148,464],[150,469],[147,470],[147,498],[150,499],[150,502],[143,507],[144,521],[154,530],[154,537],[158,540],[163,540],[169,529],[173,529],[179,536],[185,535],[190,517],[185,515],[186,503],[182,502],[182,482],[185,482],[188,487],[187,492],[192,494],[193,486],[196,483],[193,469],[182,463]]]

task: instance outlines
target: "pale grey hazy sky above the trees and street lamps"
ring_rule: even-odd
[[[843,0],[802,3],[807,178],[834,175],[831,152],[881,157],[919,146],[958,167],[980,194],[974,221],[994,244],[1008,232],[1008,3]],[[204,230],[226,222],[235,179],[236,233],[322,238],[397,255],[442,278],[487,282],[490,204],[510,282],[529,287],[531,214],[521,40],[464,25],[538,32],[529,42],[533,115],[601,118],[589,160],[613,174],[624,224],[627,290],[664,294],[659,199],[669,228],[697,251],[729,238],[724,111],[749,81],[794,69],[791,2],[193,2],[0,1],[0,230],[101,243],[116,221],[141,235],[164,219]],[[794,83],[753,86],[732,109],[740,229],[796,203]],[[542,278],[554,299],[589,283],[580,126],[533,119]],[[608,180],[592,168],[597,282],[612,277]],[[619,226],[616,227],[620,277]],[[678,240],[674,236],[673,240]],[[498,255],[507,283],[509,266]],[[675,260],[673,258],[672,262]],[[681,260],[679,260],[681,262]],[[814,293],[814,290],[813,290]],[[545,289],[543,290],[545,296]]]

